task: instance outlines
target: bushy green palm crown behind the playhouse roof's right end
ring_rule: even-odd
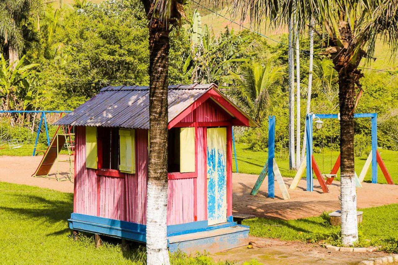
[[[281,88],[276,84],[283,74],[283,67],[275,66],[271,60],[264,65],[246,63],[240,67],[239,74],[231,73],[236,86],[228,88],[226,93],[260,123],[273,106],[281,103]]]

